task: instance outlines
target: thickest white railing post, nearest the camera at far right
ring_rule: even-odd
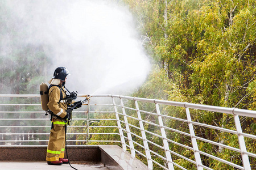
[[[250,170],[251,165],[250,165],[248,155],[244,154],[244,152],[246,152],[246,145],[245,145],[245,139],[243,139],[243,135],[241,135],[242,128],[241,128],[241,124],[240,124],[238,115],[234,115],[234,122],[235,122],[236,129],[237,129],[237,137],[238,137],[238,143],[239,143],[240,150],[241,150],[243,168],[245,168],[246,170]]]

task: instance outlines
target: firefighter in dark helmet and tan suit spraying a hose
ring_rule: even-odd
[[[65,82],[69,71],[65,67],[57,67],[53,77],[49,80],[49,102],[48,108],[52,112],[52,129],[49,135],[46,160],[49,165],[68,164],[69,160],[64,159],[65,151],[65,126],[69,124],[68,118],[71,110],[68,109],[68,103],[65,99]],[[81,101],[78,101],[81,103]],[[82,103],[81,103],[82,105]],[[81,106],[80,106],[81,107]]]

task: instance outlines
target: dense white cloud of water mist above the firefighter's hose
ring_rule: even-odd
[[[113,1],[6,1],[20,19],[24,44],[43,44],[49,78],[65,66],[69,91],[126,95],[150,70],[133,16]],[[48,81],[46,80],[46,82]]]

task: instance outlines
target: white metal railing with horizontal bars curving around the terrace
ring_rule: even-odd
[[[255,146],[256,135],[243,127],[245,120],[256,118],[255,111],[119,95],[90,96],[86,106],[73,111],[68,144],[120,145],[151,169],[255,168],[256,150],[251,146]],[[40,95],[0,95],[0,101],[1,146],[47,145],[51,123],[40,109]],[[226,119],[218,123],[199,120],[205,114]],[[216,135],[211,137],[208,131]],[[228,158],[223,156],[227,152]]]

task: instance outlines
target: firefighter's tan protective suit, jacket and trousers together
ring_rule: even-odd
[[[59,84],[61,87],[61,84]],[[49,109],[57,116],[64,118],[67,115],[67,103],[65,100],[60,100],[60,88],[57,86],[52,86],[49,89],[49,103],[47,104]],[[65,99],[66,94],[63,87],[62,94],[63,99]],[[59,160],[59,158],[64,158],[65,151],[65,125],[68,122],[64,122],[62,119],[52,116],[51,133],[49,136],[49,142],[47,147],[46,160],[49,162]]]

